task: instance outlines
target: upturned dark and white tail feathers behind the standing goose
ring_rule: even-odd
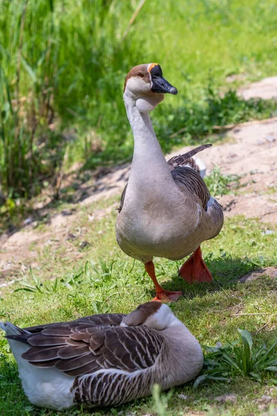
[[[168,164],[172,166],[172,169],[176,168],[177,166],[190,166],[190,168],[193,168],[195,171],[197,171],[201,177],[204,177],[206,173],[206,165],[201,159],[195,157],[195,155],[211,146],[213,145],[204,144],[202,146],[198,146],[193,150],[190,150],[190,152],[184,153],[184,155],[173,156],[168,160]]]

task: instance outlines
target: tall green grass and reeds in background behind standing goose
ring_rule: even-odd
[[[179,89],[154,115],[164,150],[198,143],[214,124],[276,114],[276,103],[238,100],[228,91],[238,83],[226,83],[233,73],[246,82],[276,73],[276,2],[170,0],[161,7],[145,1],[123,40],[138,3],[1,1],[0,176],[6,196],[36,195],[45,181],[55,193],[60,169],[75,160],[95,167],[131,157],[122,90],[134,64],[160,62]]]

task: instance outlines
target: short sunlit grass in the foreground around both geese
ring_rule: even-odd
[[[39,269],[28,272],[23,281],[1,288],[1,320],[24,327],[39,322],[72,320],[91,313],[128,313],[153,297],[152,282],[145,275],[143,264],[129,259],[118,248],[114,236],[116,211],[92,223],[88,220],[94,209],[108,207],[115,201],[118,202],[118,197],[83,207],[69,229],[69,232],[76,232],[79,227],[82,234],[71,244],[46,245],[37,252]],[[204,259],[214,277],[212,284],[190,286],[177,276],[181,261],[155,259],[157,277],[163,286],[184,291],[184,297],[172,304],[172,310],[203,346],[214,347],[218,341],[224,344],[226,340],[237,340],[237,328],[253,334],[253,346],[262,342],[271,345],[276,339],[276,279],[264,274],[249,283],[238,281],[256,265],[276,264],[276,232],[262,235],[267,227],[269,225],[258,219],[235,217],[225,221],[219,236],[203,243]],[[274,225],[270,225],[270,229],[277,231]],[[90,245],[81,250],[80,242],[84,240]],[[30,245],[30,250],[36,250],[34,245]],[[79,255],[82,258],[77,259]],[[265,324],[266,327],[255,335]],[[118,415],[123,411],[123,415],[136,412],[141,416],[151,413],[153,408],[159,410],[157,397],[154,401],[150,397],[117,408],[96,409],[92,413],[80,409],[39,410],[30,406],[24,396],[15,361],[3,338],[0,353],[0,415],[88,416]],[[254,399],[265,394],[266,385],[274,385],[273,379],[271,374],[264,374],[259,382],[234,374],[229,383],[211,382],[199,385],[196,390],[193,383],[189,383],[172,390],[169,397],[168,393],[163,393],[161,399],[163,404],[167,401],[165,411],[169,416],[183,415],[188,409],[199,412],[207,408],[211,415],[246,416],[251,412],[258,415]],[[218,406],[215,397],[225,392],[238,395],[235,406]],[[180,394],[188,395],[188,400],[179,398]]]

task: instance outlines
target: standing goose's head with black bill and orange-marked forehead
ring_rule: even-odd
[[[127,73],[123,97],[125,101],[131,98],[139,112],[154,110],[163,101],[164,94],[176,95],[177,88],[163,78],[163,71],[156,62],[136,65]]]

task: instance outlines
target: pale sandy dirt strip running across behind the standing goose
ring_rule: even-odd
[[[277,97],[277,77],[265,78],[259,83],[241,89],[244,98]],[[192,147],[186,146],[172,155],[185,153]],[[224,207],[225,218],[242,214],[258,217],[267,223],[277,221],[277,120],[237,125],[226,133],[222,144],[213,146],[201,155],[208,171],[218,164],[225,175],[241,176],[240,189],[233,195],[217,198]],[[0,238],[0,286],[7,279],[13,279],[19,270],[35,261],[32,258],[30,244],[36,247],[45,245],[49,239],[57,238],[59,244],[68,239],[69,227],[78,219],[80,207],[90,206],[100,198],[120,195],[129,175],[129,164],[113,168],[105,175],[95,175],[93,180],[80,184],[75,192],[72,209],[51,216],[46,231],[36,230],[36,222],[26,218],[24,227],[19,231],[4,234]],[[115,205],[93,211],[91,220],[97,220],[110,214]],[[37,209],[43,214],[47,211],[42,202]],[[23,266],[24,265],[24,266]]]

